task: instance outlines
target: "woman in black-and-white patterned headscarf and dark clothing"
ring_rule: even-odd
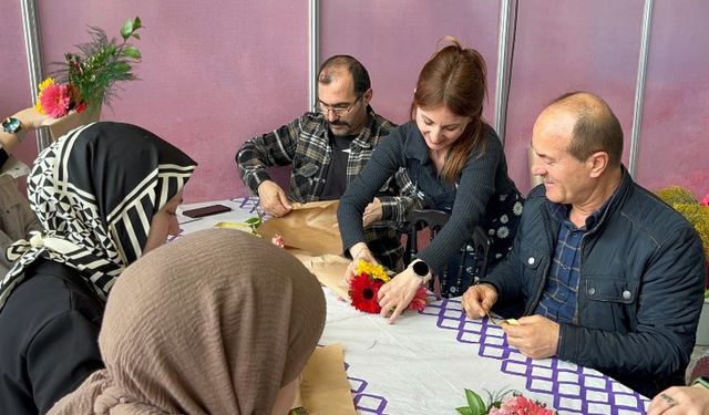
[[[141,127],[95,123],[45,148],[28,177],[43,231],[0,277],[0,414],[45,413],[103,366],[96,338],[123,270],[178,231],[196,167]]]

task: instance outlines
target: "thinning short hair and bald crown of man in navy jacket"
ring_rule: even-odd
[[[578,160],[596,152],[608,154],[610,166],[618,167],[623,157],[623,128],[610,106],[598,95],[584,91],[566,93],[549,105],[577,116],[568,153]]]

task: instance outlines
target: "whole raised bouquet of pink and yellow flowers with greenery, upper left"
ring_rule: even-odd
[[[129,19],[121,28],[122,41],[109,40],[102,29],[90,28],[91,41],[76,45],[76,53],[65,53],[65,62],[55,63],[60,69],[53,77],[40,83],[37,112],[61,118],[71,111],[97,112],[101,105],[110,105],[116,82],[137,79],[132,65],[142,55],[131,40],[141,39],[137,31],[142,27],[141,18]]]

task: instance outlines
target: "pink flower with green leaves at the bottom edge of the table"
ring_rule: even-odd
[[[455,408],[462,415],[555,415],[545,403],[531,400],[517,391],[487,393],[487,403],[471,390],[465,390],[467,406]]]

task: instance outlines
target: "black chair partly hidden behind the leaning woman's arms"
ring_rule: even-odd
[[[407,234],[407,250],[404,252],[404,262],[407,264],[411,263],[411,261],[415,259],[417,252],[419,251],[419,232],[428,227],[430,231],[429,241],[431,241],[448,222],[450,214],[433,209],[417,209],[409,212],[409,231]],[[465,272],[465,267],[473,267],[473,269],[475,270],[473,272],[475,281],[485,278],[485,276],[487,274],[487,262],[490,261],[491,245],[492,239],[487,236],[485,230],[482,227],[476,226],[473,230],[472,241],[467,243],[466,248],[463,248],[461,250],[461,261],[458,269],[458,277],[462,277],[463,272]],[[472,264],[465,263],[465,258],[471,251],[471,249],[467,247],[472,247],[472,250],[474,251],[474,255],[472,257],[475,260]]]

